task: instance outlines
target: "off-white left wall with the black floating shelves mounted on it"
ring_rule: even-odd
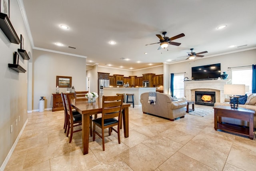
[[[32,52],[32,46],[26,32],[20,8],[16,0],[10,0],[10,21],[16,33],[24,38],[24,49],[27,53]],[[27,70],[26,73],[18,73],[8,68],[13,63],[13,53],[20,48],[20,44],[10,43],[8,38],[0,29],[0,166],[3,165],[12,145],[27,120],[27,80],[28,61],[20,56],[19,64]],[[16,125],[16,119],[20,121]],[[10,125],[13,125],[13,132],[10,132]]]

